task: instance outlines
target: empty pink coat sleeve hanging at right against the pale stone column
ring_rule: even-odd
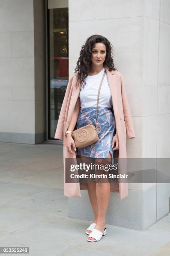
[[[124,86],[121,73],[120,73],[120,79],[121,79],[123,114],[124,114],[124,120],[126,123],[126,133],[127,133],[128,139],[131,139],[131,138],[135,138],[135,131],[134,131],[133,120],[130,113],[128,98],[126,95],[125,86]]]

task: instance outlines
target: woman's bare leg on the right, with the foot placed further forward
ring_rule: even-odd
[[[108,158],[112,159],[112,155],[110,152],[108,154]],[[96,183],[96,197],[97,197],[98,215],[97,215],[97,224],[95,228],[103,232],[105,229],[105,214],[110,201],[110,183],[109,182]],[[90,236],[88,239],[95,240]]]

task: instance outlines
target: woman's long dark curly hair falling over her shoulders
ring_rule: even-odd
[[[105,61],[103,62],[103,66],[107,66],[109,71],[117,70],[113,63],[113,49],[112,44],[110,41],[105,38],[104,36],[100,35],[92,35],[87,38],[84,45],[81,47],[80,55],[77,60],[77,66],[75,68],[75,75],[77,76],[77,82],[80,82],[81,86],[85,85],[85,78],[90,71],[90,67],[92,64],[91,61],[91,54],[92,48],[95,47],[95,43],[103,43],[106,46],[106,57]]]

